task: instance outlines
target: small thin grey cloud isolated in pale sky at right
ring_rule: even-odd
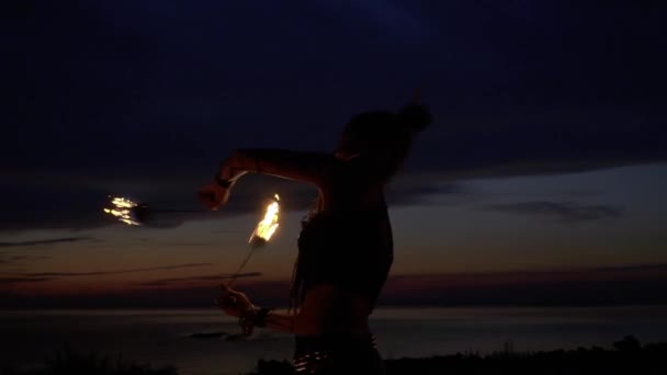
[[[623,211],[608,205],[587,205],[577,202],[518,202],[509,204],[495,204],[485,207],[487,211],[542,216],[562,223],[592,221],[608,218],[618,218]]]

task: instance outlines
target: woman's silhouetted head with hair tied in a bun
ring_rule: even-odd
[[[429,110],[419,104],[409,104],[396,113],[360,113],[343,128],[335,155],[341,159],[363,157],[377,177],[386,181],[403,164],[414,136],[430,123]]]

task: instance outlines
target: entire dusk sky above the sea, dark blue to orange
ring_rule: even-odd
[[[297,3],[299,3],[297,5]],[[386,304],[667,303],[664,1],[19,1],[2,13],[0,307],[286,303],[316,191],[235,148],[329,152],[355,113],[433,113],[387,189]],[[202,213],[145,227],[109,194]]]

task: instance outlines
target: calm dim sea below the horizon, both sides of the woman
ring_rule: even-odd
[[[625,334],[667,341],[667,306],[591,308],[378,308],[371,325],[385,357],[464,351],[488,353],[600,345]],[[39,363],[57,349],[97,351],[179,374],[242,374],[258,359],[290,359],[292,338],[258,330],[251,338],[193,339],[238,332],[236,320],[206,310],[48,310],[0,312],[0,363]]]

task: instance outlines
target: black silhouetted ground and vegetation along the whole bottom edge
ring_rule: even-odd
[[[387,360],[387,375],[422,374],[512,374],[512,375],[664,375],[667,374],[667,342],[642,345],[628,336],[613,343],[613,349],[599,346],[550,352],[505,351],[487,355],[476,353],[428,359]],[[354,370],[350,368],[350,374]],[[2,375],[177,375],[176,367],[152,368],[147,364],[127,363],[95,353],[58,352],[44,366],[32,370],[0,367]],[[248,375],[292,375],[289,361],[258,362]]]

